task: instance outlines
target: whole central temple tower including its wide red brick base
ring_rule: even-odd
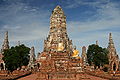
[[[38,56],[38,80],[76,79],[75,73],[82,71],[79,52],[67,35],[66,16],[60,6],[52,11],[50,32],[44,40],[44,50]]]

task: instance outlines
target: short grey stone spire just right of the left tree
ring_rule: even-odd
[[[29,60],[29,64],[28,64],[28,68],[34,68],[35,66],[35,49],[34,47],[31,47],[30,49],[30,60]]]

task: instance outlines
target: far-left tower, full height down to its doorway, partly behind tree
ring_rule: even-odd
[[[2,58],[3,58],[4,50],[7,49],[9,49],[8,31],[5,32],[5,38],[0,52],[0,70],[5,70],[5,63]]]

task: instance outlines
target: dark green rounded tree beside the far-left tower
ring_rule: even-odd
[[[5,61],[5,66],[8,70],[13,71],[21,66],[28,65],[29,62],[29,50],[30,48],[25,45],[11,47],[4,51],[3,60]]]

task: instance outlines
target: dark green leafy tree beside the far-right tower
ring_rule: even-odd
[[[95,66],[103,66],[108,64],[108,51],[106,48],[99,47],[98,45],[89,45],[87,50],[88,63]]]

